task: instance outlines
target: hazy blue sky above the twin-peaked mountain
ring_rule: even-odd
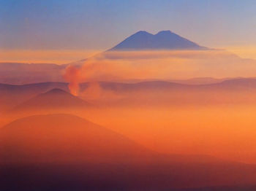
[[[104,50],[140,30],[255,46],[255,12],[255,0],[0,0],[0,48]]]

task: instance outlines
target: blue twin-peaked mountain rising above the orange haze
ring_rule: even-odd
[[[146,31],[138,31],[123,42],[108,51],[126,50],[207,50],[195,42],[184,39],[171,31],[159,31],[150,34]]]

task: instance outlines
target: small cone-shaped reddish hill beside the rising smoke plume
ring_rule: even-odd
[[[90,104],[82,99],[67,93],[59,88],[53,88],[46,93],[40,93],[35,97],[15,106],[14,111],[26,109],[64,109],[64,108],[82,108]]]

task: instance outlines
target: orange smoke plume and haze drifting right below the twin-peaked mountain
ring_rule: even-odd
[[[254,77],[255,74],[256,61],[222,50],[118,51],[101,53],[80,66],[68,66],[64,79],[77,95],[80,82]]]

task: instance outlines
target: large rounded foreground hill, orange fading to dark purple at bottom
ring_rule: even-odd
[[[3,191],[223,190],[256,184],[255,165],[158,154],[70,114],[25,117],[5,125],[0,151]]]

